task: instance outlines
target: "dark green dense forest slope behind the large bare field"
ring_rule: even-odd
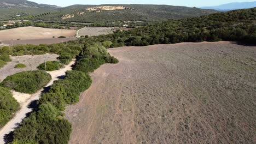
[[[80,38],[79,43],[112,41],[110,47],[200,41],[256,43],[256,8],[154,23],[131,31]]]

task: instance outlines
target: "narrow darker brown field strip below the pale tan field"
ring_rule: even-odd
[[[18,44],[39,45],[39,44],[57,44],[57,43],[62,43],[65,41],[76,40],[76,39],[77,38],[21,39],[21,40],[3,40],[2,43],[8,44],[8,45],[18,45]]]

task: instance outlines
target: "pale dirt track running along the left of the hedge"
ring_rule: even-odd
[[[72,70],[72,65],[75,63],[75,60],[70,62],[65,68],[55,71],[48,72],[51,75],[51,81],[46,85],[45,87],[49,87],[53,85],[53,82],[55,80],[58,80],[59,76],[65,75],[65,72],[68,70]],[[21,109],[15,114],[15,116],[4,125],[4,127],[0,130],[0,144],[5,143],[4,142],[4,136],[9,134],[11,131],[14,131],[16,127],[18,127],[18,124],[22,122],[22,119],[26,117],[26,113],[31,112],[33,109],[29,108],[29,105],[32,101],[38,100],[40,98],[40,95],[43,93],[43,88],[40,89],[37,93],[34,93],[31,95],[30,99],[28,99],[24,104],[21,105]]]

